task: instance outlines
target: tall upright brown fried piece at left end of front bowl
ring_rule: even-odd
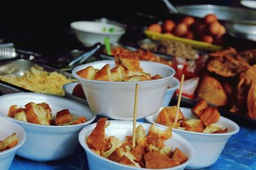
[[[105,136],[106,121],[108,118],[100,118],[92,133],[86,139],[89,148],[99,149],[106,147],[107,141]]]

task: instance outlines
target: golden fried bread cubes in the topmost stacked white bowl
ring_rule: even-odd
[[[130,55],[115,55],[115,64],[113,69],[106,64],[100,70],[88,66],[77,71],[76,74],[81,78],[99,81],[147,81],[161,78],[159,74],[151,76],[143,72],[140,61]]]

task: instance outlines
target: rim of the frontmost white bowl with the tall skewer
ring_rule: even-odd
[[[125,124],[131,124],[131,125],[132,125],[132,121],[129,121],[129,120],[108,120],[108,122],[110,122],[110,124],[115,124],[115,123],[120,122],[120,121],[124,122]],[[109,163],[115,164],[115,165],[117,165],[117,166],[127,167],[127,168],[130,168],[130,169],[142,169],[141,167],[131,167],[131,166],[127,166],[127,165],[124,165],[124,164],[120,164],[120,163],[118,163],[118,162],[115,162],[115,161],[106,159],[106,158],[104,158],[104,157],[98,155],[97,153],[93,152],[92,149],[90,149],[90,148],[88,147],[88,145],[86,144],[86,141],[84,141],[84,137],[85,137],[85,136],[84,136],[84,132],[85,132],[87,129],[89,129],[90,127],[95,126],[96,124],[97,124],[97,122],[94,123],[94,124],[90,124],[90,125],[88,125],[87,127],[84,127],[84,128],[79,132],[79,136],[78,136],[79,143],[80,143],[80,145],[84,148],[84,150],[85,150],[86,152],[90,152],[94,157],[97,157],[97,158],[99,158],[100,160],[103,160],[103,161],[105,161],[105,162],[109,162]],[[137,125],[150,125],[150,124],[144,123],[144,122],[137,122]],[[166,129],[166,127],[161,127],[161,128]],[[186,147],[188,147],[188,150],[189,150],[189,152],[191,153],[191,157],[189,157],[188,160],[187,160],[186,162],[184,162],[183,164],[180,164],[180,165],[175,166],[175,167],[164,168],[163,170],[172,170],[172,169],[175,170],[175,169],[179,169],[180,167],[186,167],[186,166],[188,166],[188,165],[193,161],[193,159],[194,159],[194,157],[195,157],[195,149],[194,149],[194,147],[191,145],[191,143],[189,143],[189,141],[188,141],[187,139],[185,139],[185,138],[184,138],[183,136],[181,136],[180,134],[177,134],[176,132],[173,132],[173,131],[172,131],[172,134],[174,134],[174,136],[176,136],[177,138],[182,139],[182,141],[183,141],[184,143],[186,143]],[[172,135],[172,138],[173,138],[174,136]],[[88,159],[88,158],[87,158],[87,159]],[[146,169],[146,168],[143,168],[143,169]]]

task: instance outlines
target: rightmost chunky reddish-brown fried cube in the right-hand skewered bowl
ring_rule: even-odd
[[[220,119],[220,112],[213,107],[205,108],[202,110],[198,117],[202,120],[204,125],[210,125],[218,122]]]

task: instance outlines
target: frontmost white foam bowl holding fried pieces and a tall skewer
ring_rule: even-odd
[[[124,141],[125,136],[131,136],[132,135],[132,121],[120,121],[120,120],[110,120],[110,125],[106,128],[106,135],[107,136],[116,136],[116,138]],[[150,124],[145,124],[141,122],[136,123],[138,125],[143,125],[146,134],[148,133],[148,129],[150,127]],[[79,143],[83,146],[87,160],[88,160],[88,166],[90,170],[97,169],[97,170],[103,170],[103,169],[118,169],[118,170],[127,170],[127,169],[141,169],[138,167],[131,167],[131,166],[125,166],[123,164],[119,164],[117,162],[114,162],[112,160],[105,159],[104,157],[101,157],[100,155],[97,155],[95,152],[93,152],[87,145],[86,139],[92,132],[92,130],[95,128],[96,124],[88,125],[87,127],[84,127],[84,129],[79,133]],[[166,128],[164,128],[166,129]],[[164,141],[164,145],[170,146],[173,149],[179,148],[182,152],[184,152],[188,160],[184,162],[184,164],[180,164],[179,166],[167,168],[169,170],[171,169],[184,169],[192,160],[194,157],[194,149],[193,146],[182,136],[179,134],[173,132],[172,138],[167,139]]]

